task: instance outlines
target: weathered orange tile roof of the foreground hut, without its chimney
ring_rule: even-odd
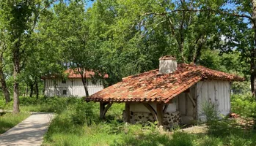
[[[203,79],[244,81],[244,78],[194,64],[178,64],[170,74],[158,74],[158,69],[125,77],[89,96],[87,101],[164,101],[168,102],[191,85]]]

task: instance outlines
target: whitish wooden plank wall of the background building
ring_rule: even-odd
[[[103,85],[98,80],[96,84],[93,84],[91,80],[87,81],[87,88],[89,95],[101,91]],[[66,91],[66,95],[63,94]],[[62,80],[45,79],[45,96],[86,96],[84,91],[83,82],[81,79],[67,79],[66,83],[62,83]]]

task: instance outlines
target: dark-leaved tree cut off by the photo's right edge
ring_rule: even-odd
[[[250,64],[252,95],[256,93],[256,1],[222,1],[217,9],[208,8],[222,16],[219,23],[219,42],[223,52],[239,51],[242,61]],[[220,39],[224,38],[224,42]],[[218,40],[218,39],[217,39]],[[256,98],[256,96],[255,96]]]

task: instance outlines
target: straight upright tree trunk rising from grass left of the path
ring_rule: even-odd
[[[13,113],[17,114],[20,112],[19,106],[19,82],[18,82],[18,74],[20,73],[20,50],[17,45],[15,45],[15,49],[13,50]]]

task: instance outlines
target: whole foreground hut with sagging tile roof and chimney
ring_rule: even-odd
[[[230,113],[230,85],[243,77],[195,64],[177,64],[174,57],[159,59],[159,69],[125,77],[87,98],[100,102],[100,117],[114,102],[125,102],[123,118],[137,123],[158,121],[171,127],[203,120],[207,103],[218,106],[219,113]]]

